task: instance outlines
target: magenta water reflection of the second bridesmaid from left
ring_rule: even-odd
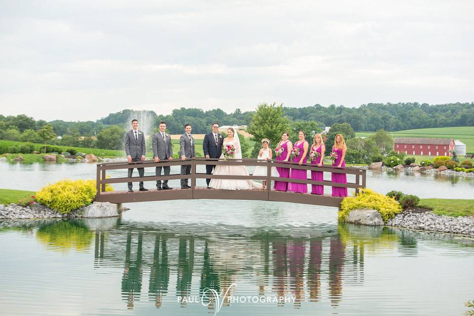
[[[305,299],[303,275],[305,270],[305,244],[303,240],[288,242],[286,246],[288,255],[288,266],[290,277],[294,280],[293,295],[295,296],[295,308],[301,307],[301,301]]]

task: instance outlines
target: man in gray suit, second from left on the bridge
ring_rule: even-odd
[[[166,123],[159,122],[159,132],[153,135],[153,157],[155,162],[159,160],[169,160],[173,159],[173,144],[171,143],[171,137],[169,134],[166,134]],[[157,177],[161,175],[161,168],[164,169],[164,175],[169,175],[170,166],[157,167],[155,174]],[[157,180],[157,189],[158,190],[171,190],[173,188],[168,187],[168,180],[163,180],[163,186],[161,187],[161,180]]]

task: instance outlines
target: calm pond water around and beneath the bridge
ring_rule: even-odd
[[[38,190],[94,171],[0,163],[0,188]],[[474,187],[370,171],[367,185],[458,198]],[[0,314],[445,316],[474,299],[471,238],[338,225],[335,208],[303,204],[126,206],[120,218],[0,222]]]

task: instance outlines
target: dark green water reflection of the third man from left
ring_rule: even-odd
[[[194,266],[194,239],[189,240],[189,253],[188,253],[188,240],[186,238],[179,239],[178,249],[178,272],[176,279],[176,295],[181,296],[181,305],[186,306],[186,300],[184,297],[190,295],[191,281],[193,278],[193,266]]]

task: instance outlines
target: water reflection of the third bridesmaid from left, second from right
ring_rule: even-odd
[[[308,263],[308,289],[310,291],[310,302],[319,300],[319,288],[321,286],[320,273],[322,262],[322,240],[310,240],[310,259]]]

